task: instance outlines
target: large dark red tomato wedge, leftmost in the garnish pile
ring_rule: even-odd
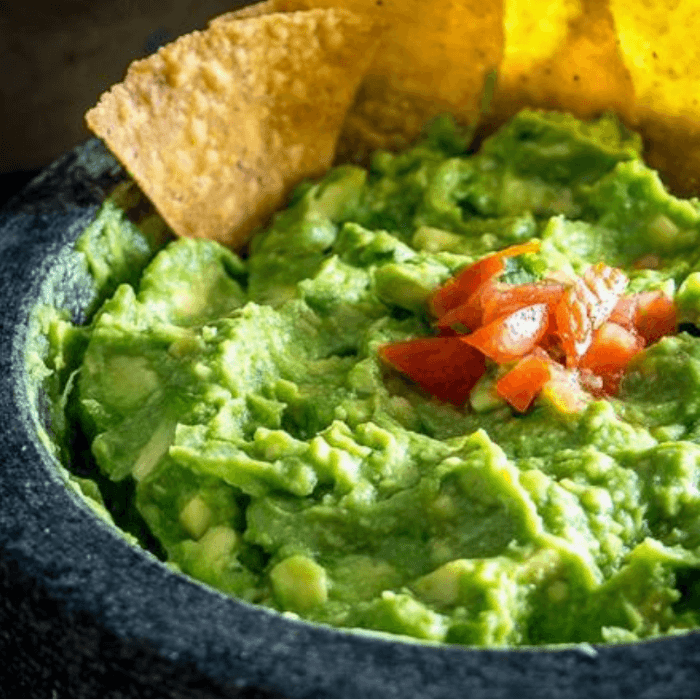
[[[379,356],[441,401],[463,406],[484,374],[484,355],[462,336],[415,338],[379,348]]]

